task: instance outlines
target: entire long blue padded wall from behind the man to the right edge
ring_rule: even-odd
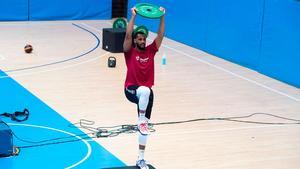
[[[166,8],[167,37],[300,87],[300,1],[143,2]],[[158,23],[136,18],[154,32]]]

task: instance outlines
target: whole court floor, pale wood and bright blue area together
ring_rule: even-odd
[[[102,49],[108,27],[112,20],[0,23],[1,110],[30,111],[25,122],[2,118],[20,153],[1,158],[1,166],[135,165],[136,133],[97,138],[78,125],[137,122],[136,107],[124,95],[124,56]],[[151,32],[147,43],[154,37]],[[32,44],[31,54],[22,50],[24,42]],[[115,68],[107,66],[110,56]],[[155,74],[155,131],[145,155],[153,167],[298,168],[298,88],[168,38],[156,54]]]

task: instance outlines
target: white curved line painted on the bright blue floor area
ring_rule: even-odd
[[[68,167],[66,167],[65,169],[71,169],[71,168],[74,168],[76,166],[78,166],[79,164],[83,163],[86,159],[88,159],[92,153],[92,148],[91,148],[91,145],[86,141],[84,140],[83,138],[81,138],[80,136],[77,136],[73,133],[70,133],[70,132],[67,132],[67,131],[64,131],[64,130],[60,130],[60,129],[56,129],[56,128],[52,128],[52,127],[47,127],[47,126],[38,126],[38,125],[32,125],[32,124],[16,124],[16,123],[8,123],[8,125],[12,125],[12,126],[27,126],[27,127],[35,127],[35,128],[42,128],[42,129],[48,129],[48,130],[53,130],[53,131],[58,131],[58,132],[61,132],[61,133],[65,133],[65,134],[68,134],[68,135],[71,135],[71,136],[74,136],[76,137],[77,139],[80,139],[86,146],[87,146],[87,153],[85,155],[84,158],[82,158],[80,161],[78,161],[77,163],[74,163]]]

